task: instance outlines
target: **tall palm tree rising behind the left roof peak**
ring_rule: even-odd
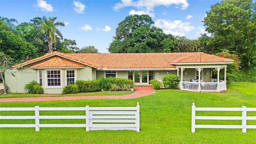
[[[60,30],[56,28],[56,26],[65,26],[64,22],[56,22],[57,17],[49,17],[43,16],[40,25],[38,26],[38,30],[40,33],[46,36],[46,40],[48,42],[48,47],[50,53],[53,52],[52,50],[52,43],[57,43],[57,36],[60,36],[60,39],[63,40],[63,36],[60,33]]]

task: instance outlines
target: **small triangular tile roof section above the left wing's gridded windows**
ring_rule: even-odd
[[[34,64],[29,67],[30,68],[63,68],[63,67],[86,67],[86,66],[83,64],[74,62],[72,60],[68,60],[66,58],[54,56],[49,60],[40,62],[38,64]]]

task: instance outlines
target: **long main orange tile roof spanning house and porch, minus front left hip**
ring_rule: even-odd
[[[204,54],[203,52],[186,52],[186,53],[118,53],[118,54],[65,54],[54,52],[46,54],[34,60],[24,62],[13,66],[17,68],[26,64],[31,64],[38,60],[50,56],[60,56],[75,62],[80,62],[94,68],[176,68],[170,63],[218,63],[233,62],[233,60]]]

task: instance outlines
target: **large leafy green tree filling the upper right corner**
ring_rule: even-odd
[[[256,3],[252,0],[223,0],[206,12],[204,26],[212,37],[205,38],[209,53],[233,51],[244,69],[256,66]]]

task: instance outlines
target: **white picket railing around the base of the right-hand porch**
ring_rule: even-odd
[[[188,91],[198,91],[198,82],[184,82],[180,81],[179,88],[182,90]],[[200,91],[201,92],[218,92],[217,89],[218,82],[200,82]],[[219,91],[226,90],[226,81],[220,81],[220,89]]]

